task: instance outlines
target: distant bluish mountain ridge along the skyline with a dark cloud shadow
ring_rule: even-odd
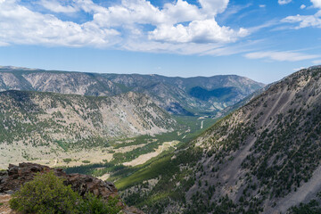
[[[97,74],[0,68],[0,91],[24,90],[75,95],[119,95],[133,91],[152,97],[170,113],[217,112],[264,86],[235,75],[168,78],[159,75]],[[203,97],[201,94],[207,95]]]

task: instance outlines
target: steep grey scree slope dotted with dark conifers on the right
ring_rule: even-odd
[[[149,213],[284,213],[321,191],[320,145],[321,68],[313,67],[269,86],[155,162],[166,173],[147,166],[117,185],[129,204]]]

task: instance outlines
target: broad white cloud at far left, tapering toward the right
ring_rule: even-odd
[[[99,29],[94,23],[79,25],[32,12],[13,0],[1,2],[0,8],[0,42],[5,44],[101,46],[110,45],[119,35],[115,29]]]

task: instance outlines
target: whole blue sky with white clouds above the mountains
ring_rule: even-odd
[[[321,64],[321,0],[0,0],[0,65],[271,83]]]

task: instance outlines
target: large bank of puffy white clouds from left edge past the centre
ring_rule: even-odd
[[[121,0],[109,7],[92,0],[35,0],[29,6],[19,0],[0,0],[0,45],[113,46],[152,51],[173,44],[201,47],[205,43],[234,43],[250,34],[242,27],[218,25],[216,16],[226,11],[229,0],[199,3],[201,7],[177,0],[159,8],[148,0]],[[39,5],[45,13],[37,11]],[[78,12],[86,12],[92,19],[79,24],[62,21],[56,14],[73,13],[77,17]],[[179,45],[173,48],[182,49]],[[203,47],[195,50],[202,51]]]

